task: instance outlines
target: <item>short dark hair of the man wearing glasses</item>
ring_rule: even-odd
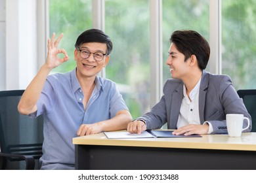
[[[81,33],[81,35],[77,37],[77,40],[75,42],[75,48],[79,48],[79,46],[81,46],[81,44],[85,42],[106,43],[107,55],[111,53],[113,48],[113,44],[110,37],[108,37],[108,35],[104,34],[104,32],[99,29],[88,29],[87,31],[84,31],[83,33]]]

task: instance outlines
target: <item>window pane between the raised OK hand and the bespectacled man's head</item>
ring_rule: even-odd
[[[68,52],[70,59],[53,69],[53,72],[66,73],[75,68],[74,50],[77,37],[92,27],[91,0],[83,1],[49,1],[50,35],[64,33],[59,47]]]

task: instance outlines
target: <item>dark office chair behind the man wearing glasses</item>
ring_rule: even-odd
[[[18,112],[24,90],[0,92],[0,169],[40,169],[43,116]]]

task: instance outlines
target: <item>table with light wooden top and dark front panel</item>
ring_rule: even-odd
[[[256,169],[256,133],[241,137],[76,137],[75,169]]]

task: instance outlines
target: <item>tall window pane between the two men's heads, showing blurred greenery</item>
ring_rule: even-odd
[[[105,31],[114,44],[106,78],[117,82],[133,118],[137,118],[150,106],[148,0],[108,0],[105,6]]]

